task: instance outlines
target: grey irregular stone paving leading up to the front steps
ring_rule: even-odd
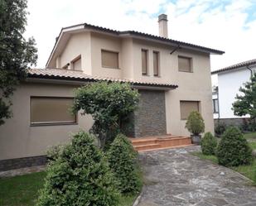
[[[140,154],[146,186],[139,206],[255,206],[256,187],[238,173],[191,156],[198,146]]]

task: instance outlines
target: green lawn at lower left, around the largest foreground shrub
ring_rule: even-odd
[[[1,206],[34,206],[38,197],[38,190],[44,184],[46,172],[36,172],[0,179],[0,205]],[[120,206],[133,205],[135,196],[123,196]]]

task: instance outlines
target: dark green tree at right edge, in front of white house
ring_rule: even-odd
[[[240,87],[240,95],[236,95],[236,101],[233,103],[234,115],[244,116],[249,114],[250,119],[255,122],[256,119],[256,74],[251,77],[249,82]]]

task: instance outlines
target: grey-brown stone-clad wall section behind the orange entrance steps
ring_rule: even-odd
[[[164,135],[167,133],[165,92],[139,90],[140,101],[134,112],[134,137]]]

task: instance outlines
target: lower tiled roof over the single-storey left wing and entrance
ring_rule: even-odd
[[[156,82],[146,81],[133,81],[129,79],[118,79],[111,77],[100,77],[91,76],[84,74],[82,71],[75,71],[69,69],[28,69],[28,77],[36,79],[63,79],[63,80],[77,80],[77,81],[110,81],[110,82],[121,82],[130,83],[133,85],[141,86],[156,86],[156,87],[167,87],[176,89],[178,86],[175,84],[163,84]]]

